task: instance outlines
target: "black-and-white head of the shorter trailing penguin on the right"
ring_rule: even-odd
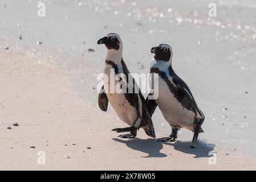
[[[168,44],[158,44],[157,47],[152,47],[151,53],[155,53],[155,60],[166,62],[172,60],[172,47]]]

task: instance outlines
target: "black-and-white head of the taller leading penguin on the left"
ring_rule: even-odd
[[[114,49],[118,51],[122,47],[120,36],[115,33],[109,33],[97,41],[97,44],[105,44],[107,49]]]

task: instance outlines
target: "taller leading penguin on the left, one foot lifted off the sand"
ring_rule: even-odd
[[[142,127],[149,137],[156,138],[145,98],[141,94],[134,78],[129,75],[128,68],[124,63],[123,43],[120,36],[115,33],[109,33],[99,39],[97,44],[105,44],[105,47],[107,47],[104,68],[104,75],[107,76],[107,79],[104,79],[99,93],[99,107],[101,110],[107,111],[108,102],[110,102],[121,121],[129,125],[129,127],[116,128],[112,129],[112,131],[117,133],[130,132],[129,134],[119,135],[119,137],[135,138],[137,130]],[[118,77],[117,80],[111,80],[111,72]],[[116,89],[111,92],[112,85],[115,88],[120,88],[122,92],[117,92]],[[132,92],[129,92],[131,89]]]

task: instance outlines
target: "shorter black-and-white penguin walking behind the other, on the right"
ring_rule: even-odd
[[[192,140],[196,142],[198,134],[204,132],[201,125],[205,116],[197,106],[188,85],[173,71],[172,47],[168,44],[159,44],[151,49],[151,53],[155,56],[151,61],[149,84],[152,84],[152,77],[157,76],[159,85],[158,90],[151,90],[146,99],[148,111],[152,117],[159,106],[165,120],[172,127],[169,137],[159,138],[157,141],[174,142],[178,130],[185,128],[194,132]]]

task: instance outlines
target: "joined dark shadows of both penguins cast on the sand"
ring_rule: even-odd
[[[193,142],[157,142],[155,139],[128,139],[123,140],[119,138],[113,138],[116,142],[124,143],[127,147],[132,148],[133,150],[141,151],[148,156],[143,156],[143,158],[164,158],[169,154],[163,154],[160,152],[163,145],[173,146],[174,150],[184,152],[186,154],[195,155],[194,158],[209,158],[209,152],[214,150],[215,144],[202,142],[198,140],[196,143]],[[196,146],[196,148],[190,148],[190,146]]]

